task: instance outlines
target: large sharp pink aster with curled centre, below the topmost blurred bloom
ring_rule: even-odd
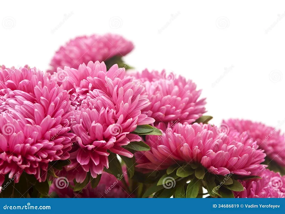
[[[142,95],[144,87],[125,76],[124,68],[113,65],[107,72],[104,62],[97,61],[80,65],[78,70],[65,67],[57,74],[62,71],[68,78],[61,84],[79,106],[72,124],[76,144],[71,151],[71,166],[66,170],[77,182],[83,182],[87,172],[96,178],[104,167],[109,167],[107,150],[133,157],[122,146],[141,141],[131,132],[137,125],[152,124],[154,119],[141,113],[149,100]]]

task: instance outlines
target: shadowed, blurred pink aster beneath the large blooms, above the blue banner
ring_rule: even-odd
[[[74,186],[73,181],[68,184],[63,178],[56,178],[50,186],[50,194],[54,192],[59,198],[134,198],[135,196],[128,193],[122,182],[122,179],[125,179],[127,182],[126,178],[126,171],[118,178],[103,172],[96,188],[93,189],[89,183],[80,192],[74,192],[71,188],[71,186]]]

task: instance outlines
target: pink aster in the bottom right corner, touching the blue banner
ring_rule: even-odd
[[[285,198],[285,176],[268,169],[258,176],[262,179],[240,180],[244,191],[234,192],[235,198]]]

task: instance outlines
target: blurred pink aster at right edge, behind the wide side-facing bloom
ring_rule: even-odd
[[[226,124],[229,129],[247,132],[270,159],[285,167],[285,137],[280,130],[250,120],[230,119],[223,121],[223,124]]]

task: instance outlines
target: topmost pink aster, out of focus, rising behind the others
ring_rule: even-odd
[[[52,58],[50,65],[54,73],[57,68],[65,66],[78,69],[79,65],[89,61],[106,61],[114,56],[125,56],[134,45],[131,41],[115,34],[80,36],[60,47]]]

